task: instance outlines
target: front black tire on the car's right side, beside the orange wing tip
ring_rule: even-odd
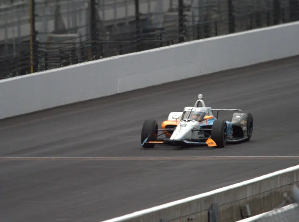
[[[216,148],[224,148],[227,140],[227,126],[225,120],[215,120],[212,126],[211,139],[216,143]]]

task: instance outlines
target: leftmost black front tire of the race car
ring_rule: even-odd
[[[148,141],[154,141],[158,136],[158,123],[155,120],[146,120],[141,131],[141,144],[149,137]],[[155,144],[144,144],[144,148],[153,148]]]

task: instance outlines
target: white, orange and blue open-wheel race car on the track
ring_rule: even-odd
[[[232,121],[218,119],[220,111],[233,111]],[[206,107],[202,94],[199,94],[194,107],[184,107],[182,112],[169,113],[160,129],[157,121],[146,120],[141,132],[141,146],[153,148],[157,144],[182,147],[203,145],[224,148],[226,144],[250,141],[252,132],[251,113],[244,113],[240,109]]]

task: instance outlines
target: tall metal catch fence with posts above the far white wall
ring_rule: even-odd
[[[299,20],[299,0],[7,1],[0,78]]]

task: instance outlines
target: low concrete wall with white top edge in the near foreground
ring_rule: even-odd
[[[279,207],[298,181],[299,165],[105,222],[236,222],[246,216],[246,205],[250,216]],[[209,221],[212,204],[218,205],[218,219]]]

